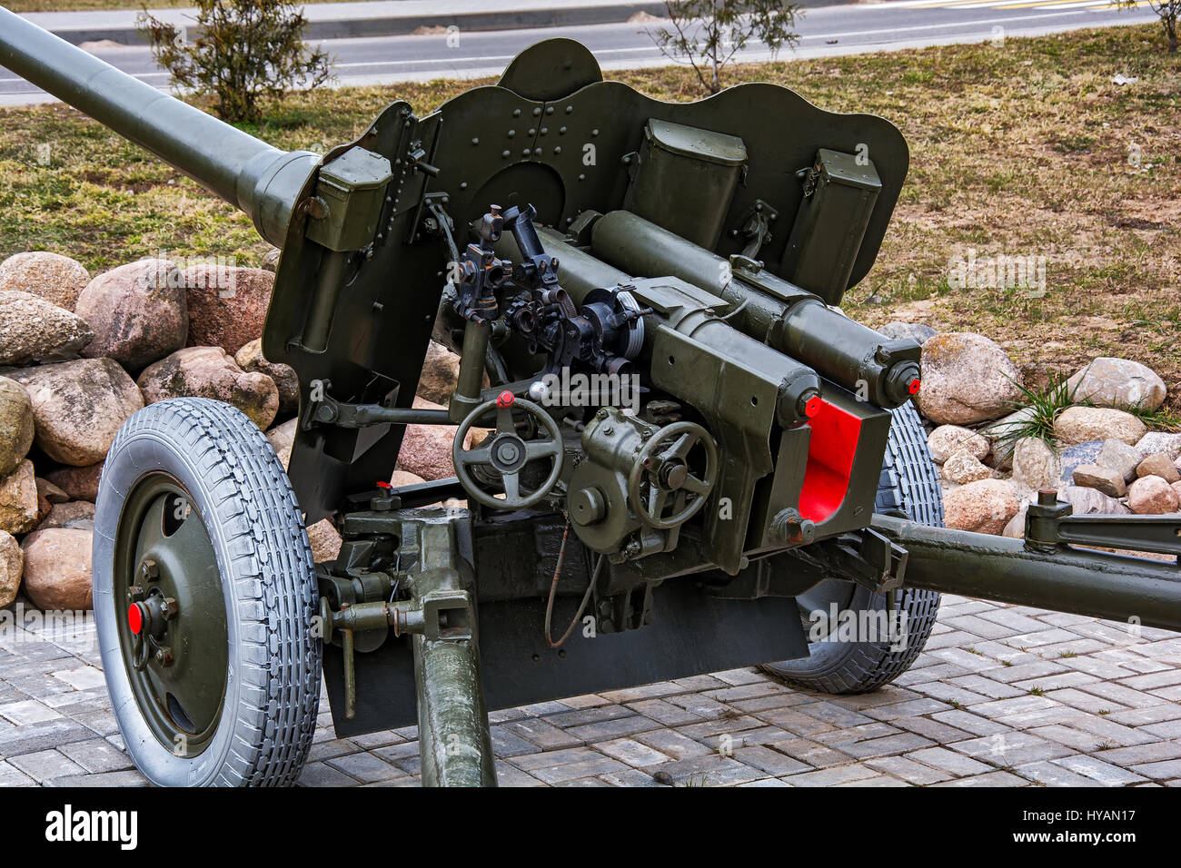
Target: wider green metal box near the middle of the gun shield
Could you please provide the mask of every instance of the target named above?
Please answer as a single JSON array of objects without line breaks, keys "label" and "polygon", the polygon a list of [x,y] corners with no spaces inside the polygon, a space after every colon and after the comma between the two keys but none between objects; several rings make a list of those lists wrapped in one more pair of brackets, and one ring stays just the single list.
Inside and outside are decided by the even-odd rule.
[{"label": "wider green metal box near the middle of the gun shield", "polygon": [[745,165],[737,136],[651,118],[624,208],[712,250]]}]

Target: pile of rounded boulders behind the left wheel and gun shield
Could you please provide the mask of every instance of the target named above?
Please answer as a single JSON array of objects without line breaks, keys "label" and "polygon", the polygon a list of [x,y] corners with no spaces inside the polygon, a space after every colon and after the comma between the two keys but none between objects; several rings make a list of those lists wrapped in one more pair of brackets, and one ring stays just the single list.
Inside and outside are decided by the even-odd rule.
[{"label": "pile of rounded boulders behind the left wheel and gun shield", "polygon": [[[187,396],[236,406],[286,465],[299,380],[262,352],[274,274],[145,259],[94,275],[54,253],[0,262],[0,608],[91,606],[91,542],[103,461],[148,404]],[[445,400],[458,357],[432,344],[416,405]],[[411,426],[394,484],[454,475],[451,437]],[[412,471],[412,472],[411,472]],[[308,528],[317,560],[340,547]]]}]

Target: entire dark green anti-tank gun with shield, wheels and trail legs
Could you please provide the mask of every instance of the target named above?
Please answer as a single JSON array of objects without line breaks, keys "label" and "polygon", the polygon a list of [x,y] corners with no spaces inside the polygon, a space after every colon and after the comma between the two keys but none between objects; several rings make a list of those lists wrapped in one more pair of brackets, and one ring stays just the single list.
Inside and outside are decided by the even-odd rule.
[{"label": "entire dark green anti-tank gun with shield, wheels and trail legs", "polygon": [[[489,707],[750,665],[872,690],[940,590],[1181,628],[1174,564],[1071,547],[1175,555],[1175,518],[1046,492],[1025,541],[940,527],[920,348],[837,309],[906,176],[881,118],[768,84],[659,103],[559,39],[318,157],[2,9],[0,64],[282,248],[263,348],[300,378],[287,472],[190,398],[105,464],[96,620],[156,783],[293,781],[321,665],[338,735],[417,720],[426,783],[489,784]],[[413,403],[432,334],[461,353],[444,409]],[[410,424],[455,426],[455,477],[390,485]],[[329,516],[340,554],[313,564],[304,528]],[[883,629],[826,641],[849,613]]]}]

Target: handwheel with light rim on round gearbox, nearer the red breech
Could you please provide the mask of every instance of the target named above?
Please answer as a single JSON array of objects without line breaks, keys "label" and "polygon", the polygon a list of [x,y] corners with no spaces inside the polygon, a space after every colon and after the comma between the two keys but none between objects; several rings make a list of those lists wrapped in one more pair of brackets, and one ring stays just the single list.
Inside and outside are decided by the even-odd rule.
[{"label": "handwheel with light rim on round gearbox, nearer the red breech", "polygon": [[705,505],[717,476],[718,448],[710,432],[693,422],[674,422],[635,456],[627,500],[641,522],[671,530]]}]

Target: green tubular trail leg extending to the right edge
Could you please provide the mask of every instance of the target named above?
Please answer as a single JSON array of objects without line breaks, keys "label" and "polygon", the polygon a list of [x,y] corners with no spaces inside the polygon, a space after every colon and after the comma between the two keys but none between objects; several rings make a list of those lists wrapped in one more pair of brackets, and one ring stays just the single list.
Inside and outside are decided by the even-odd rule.
[{"label": "green tubular trail leg extending to the right edge", "polygon": [[875,515],[873,528],[908,553],[903,585],[1181,632],[1181,567],[1061,546],[932,528]]}]

